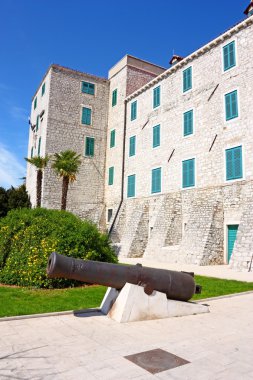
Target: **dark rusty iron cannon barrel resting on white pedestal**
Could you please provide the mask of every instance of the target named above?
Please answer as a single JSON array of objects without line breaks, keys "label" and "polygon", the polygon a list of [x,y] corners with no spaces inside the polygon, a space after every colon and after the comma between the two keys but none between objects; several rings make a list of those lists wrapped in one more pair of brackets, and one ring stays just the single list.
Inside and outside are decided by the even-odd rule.
[{"label": "dark rusty iron cannon barrel resting on white pedestal", "polygon": [[178,301],[188,301],[194,293],[199,292],[198,285],[189,273],[143,267],[141,264],[120,265],[80,260],[56,252],[49,257],[47,274],[50,278],[63,277],[118,290],[128,282],[142,285],[148,295],[157,290],[165,293],[167,298]]}]

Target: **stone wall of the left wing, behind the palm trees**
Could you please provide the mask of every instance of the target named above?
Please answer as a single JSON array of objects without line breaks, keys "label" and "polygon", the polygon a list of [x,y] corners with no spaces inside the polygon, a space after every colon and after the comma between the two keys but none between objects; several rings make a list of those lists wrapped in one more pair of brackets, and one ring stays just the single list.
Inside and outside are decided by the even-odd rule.
[{"label": "stone wall of the left wing, behind the palm trees", "polygon": [[[43,122],[44,124],[41,124],[39,129],[39,132],[41,131],[43,134],[41,156],[46,153],[53,155],[66,149],[81,154],[82,164],[77,174],[77,180],[69,185],[67,210],[104,226],[104,175],[109,82],[106,79],[57,65],[52,65],[49,73],[48,83],[46,82],[47,97],[45,97],[47,103],[40,105],[38,101],[38,110],[36,110],[40,112],[43,106],[46,116],[46,123]],[[82,93],[82,81],[95,84],[95,95]],[[81,123],[82,107],[92,109],[91,125]],[[32,112],[33,122],[34,118],[34,112]],[[85,156],[86,137],[95,138],[93,157]],[[62,180],[56,177],[49,165],[44,172],[42,206],[60,209],[61,187]],[[29,176],[28,179],[28,191],[33,200],[35,189],[36,179],[33,174],[33,177]]]}]

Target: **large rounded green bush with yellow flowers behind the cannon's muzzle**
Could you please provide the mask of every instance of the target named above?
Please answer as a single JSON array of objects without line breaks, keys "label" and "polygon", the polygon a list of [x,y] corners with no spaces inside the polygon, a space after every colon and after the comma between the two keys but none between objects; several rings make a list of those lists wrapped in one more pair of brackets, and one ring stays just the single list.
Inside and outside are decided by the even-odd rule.
[{"label": "large rounded green bush with yellow flowers behind the cannon's muzzle", "polygon": [[80,259],[117,262],[107,235],[69,212],[21,209],[0,220],[0,282],[42,288],[74,286],[77,281],[46,276],[53,251]]}]

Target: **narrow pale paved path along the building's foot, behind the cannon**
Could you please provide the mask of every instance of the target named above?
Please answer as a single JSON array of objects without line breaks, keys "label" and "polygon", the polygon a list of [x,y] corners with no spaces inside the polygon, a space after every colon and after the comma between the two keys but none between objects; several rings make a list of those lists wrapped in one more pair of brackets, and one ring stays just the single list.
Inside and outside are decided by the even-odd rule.
[{"label": "narrow pale paved path along the building's foot, behind the cannon", "polygon": [[177,271],[194,272],[202,276],[226,278],[231,280],[253,282],[253,268],[252,272],[237,272],[230,269],[228,265],[187,265],[187,264],[169,264],[159,261],[143,260],[143,258],[122,258],[120,262],[126,264],[141,263],[143,266],[149,266],[154,268],[171,269]]}]

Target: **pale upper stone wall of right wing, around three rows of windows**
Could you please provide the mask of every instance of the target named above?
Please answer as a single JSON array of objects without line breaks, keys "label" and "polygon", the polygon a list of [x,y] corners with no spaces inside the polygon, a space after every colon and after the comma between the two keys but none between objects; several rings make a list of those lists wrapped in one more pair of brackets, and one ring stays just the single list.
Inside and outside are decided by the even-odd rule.
[{"label": "pale upper stone wall of right wing, around three rows of windows", "polygon": [[[162,169],[162,194],[185,191],[182,189],[182,161],[191,158],[195,158],[196,188],[222,186],[226,183],[225,150],[239,145],[242,145],[244,158],[243,179],[253,179],[253,111],[249,96],[253,89],[252,32],[250,25],[232,34],[167,78],[157,79],[150,88],[128,101],[125,182],[128,175],[136,175],[137,198],[152,196],[151,171],[157,167]],[[236,41],[237,65],[224,72],[222,49],[231,41]],[[183,70],[189,66],[192,66],[193,87],[183,93]],[[153,89],[158,85],[161,105],[153,109]],[[235,89],[238,90],[239,117],[226,121],[224,95]],[[137,119],[131,121],[134,100],[137,100],[138,113]],[[191,109],[194,112],[193,134],[184,137],[183,114]],[[158,124],[161,144],[153,148],[153,127]],[[136,136],[133,157],[128,153],[131,136]],[[125,197],[126,192],[125,186]]]}]

